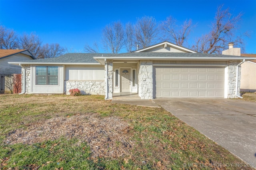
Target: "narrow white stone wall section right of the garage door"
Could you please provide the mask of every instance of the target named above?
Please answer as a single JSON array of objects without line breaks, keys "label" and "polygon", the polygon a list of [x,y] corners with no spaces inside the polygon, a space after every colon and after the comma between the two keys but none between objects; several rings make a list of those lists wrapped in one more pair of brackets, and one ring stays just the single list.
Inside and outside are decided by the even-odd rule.
[{"label": "narrow white stone wall section right of the garage door", "polygon": [[[236,66],[241,61],[228,61],[228,98],[236,97]],[[238,96],[240,96],[241,65],[238,67]]]}]

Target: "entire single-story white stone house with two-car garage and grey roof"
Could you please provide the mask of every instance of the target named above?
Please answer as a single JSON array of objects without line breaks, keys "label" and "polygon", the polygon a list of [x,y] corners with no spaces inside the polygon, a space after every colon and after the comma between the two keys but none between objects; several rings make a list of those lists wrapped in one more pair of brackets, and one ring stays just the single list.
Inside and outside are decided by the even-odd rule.
[{"label": "entire single-story white stone house with two-car garage and grey roof", "polygon": [[164,41],[132,53],[68,53],[10,63],[24,68],[26,94],[69,94],[79,88],[107,100],[113,93],[138,93],[141,99],[236,98],[236,68],[243,59],[256,58],[196,53]]}]

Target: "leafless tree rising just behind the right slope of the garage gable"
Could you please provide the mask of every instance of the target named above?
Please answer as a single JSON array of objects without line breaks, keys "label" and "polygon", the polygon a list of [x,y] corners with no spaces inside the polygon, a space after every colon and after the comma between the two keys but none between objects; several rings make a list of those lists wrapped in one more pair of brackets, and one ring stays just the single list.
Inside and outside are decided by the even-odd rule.
[{"label": "leafless tree rising just behind the right slope of the garage gable", "polygon": [[176,21],[172,16],[169,16],[165,21],[162,21],[160,29],[163,32],[164,41],[170,41],[182,46],[188,39],[188,35],[194,25],[192,25],[191,19],[184,21],[180,26],[176,25]]}]

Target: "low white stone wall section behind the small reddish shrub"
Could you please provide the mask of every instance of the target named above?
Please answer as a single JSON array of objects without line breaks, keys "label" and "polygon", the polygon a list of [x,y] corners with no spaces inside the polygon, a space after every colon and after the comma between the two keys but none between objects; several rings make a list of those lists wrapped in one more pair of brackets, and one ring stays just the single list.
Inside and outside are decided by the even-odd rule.
[{"label": "low white stone wall section behind the small reddish shrub", "polygon": [[105,95],[105,82],[104,80],[91,80],[91,81],[72,81],[67,80],[64,82],[64,91],[70,94],[70,89],[78,88],[84,95]]}]

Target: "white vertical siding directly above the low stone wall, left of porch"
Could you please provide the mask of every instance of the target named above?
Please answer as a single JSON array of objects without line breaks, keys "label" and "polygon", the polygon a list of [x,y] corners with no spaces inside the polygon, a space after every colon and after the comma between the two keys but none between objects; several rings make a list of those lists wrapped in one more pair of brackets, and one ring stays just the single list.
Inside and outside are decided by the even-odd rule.
[{"label": "white vertical siding directly above the low stone wall, left of porch", "polygon": [[65,80],[104,80],[104,66],[66,65]]}]

